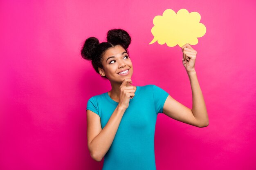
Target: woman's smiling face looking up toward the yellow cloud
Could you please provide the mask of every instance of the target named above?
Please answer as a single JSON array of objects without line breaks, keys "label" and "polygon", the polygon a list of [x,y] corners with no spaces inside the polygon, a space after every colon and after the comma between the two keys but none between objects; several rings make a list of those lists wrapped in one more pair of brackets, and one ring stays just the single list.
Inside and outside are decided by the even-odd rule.
[{"label": "woman's smiling face looking up toward the yellow cloud", "polygon": [[[106,51],[106,53],[103,55],[102,65],[104,69],[99,68],[99,73],[101,76],[106,75],[110,82],[120,84],[124,81],[124,79],[130,79],[132,77],[132,61],[126,53],[126,50],[120,45],[116,45]],[[128,72],[125,71],[127,69]],[[123,74],[118,74],[122,71],[125,72],[123,72]]]}]

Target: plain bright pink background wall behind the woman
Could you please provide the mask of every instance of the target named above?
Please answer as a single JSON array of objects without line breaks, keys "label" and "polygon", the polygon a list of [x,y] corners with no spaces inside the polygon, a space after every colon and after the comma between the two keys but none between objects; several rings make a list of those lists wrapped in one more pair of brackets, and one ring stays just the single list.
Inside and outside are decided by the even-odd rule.
[{"label": "plain bright pink background wall behind the woman", "polygon": [[[130,33],[132,82],[155,84],[192,107],[182,51],[156,43],[153,18],[196,11],[206,34],[192,46],[209,114],[198,128],[159,114],[157,170],[256,169],[256,3],[253,0],[0,1],[0,169],[99,170],[87,148],[86,104],[110,91],[80,49],[109,29]],[[146,77],[146,78],[145,78]]]}]

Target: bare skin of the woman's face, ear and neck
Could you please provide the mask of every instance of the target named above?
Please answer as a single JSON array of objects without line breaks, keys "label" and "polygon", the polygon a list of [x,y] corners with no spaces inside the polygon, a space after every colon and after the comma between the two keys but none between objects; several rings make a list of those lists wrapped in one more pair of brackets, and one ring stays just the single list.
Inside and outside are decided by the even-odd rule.
[{"label": "bare skin of the woman's face, ear and neck", "polygon": [[[120,46],[116,45],[108,49],[103,55],[103,69],[99,68],[99,73],[101,76],[108,77],[108,80],[111,84],[111,91],[108,92],[108,95],[115,102],[119,102],[120,97],[120,86],[124,82],[124,79],[131,79],[133,73],[133,66],[130,57],[126,50]],[[108,57],[114,56],[113,58],[108,59]],[[107,61],[108,59],[108,61]],[[122,70],[129,69],[129,74],[126,76],[119,75],[118,73]],[[132,86],[130,82],[127,82],[126,86]],[[136,86],[135,86],[136,90]]]}]

